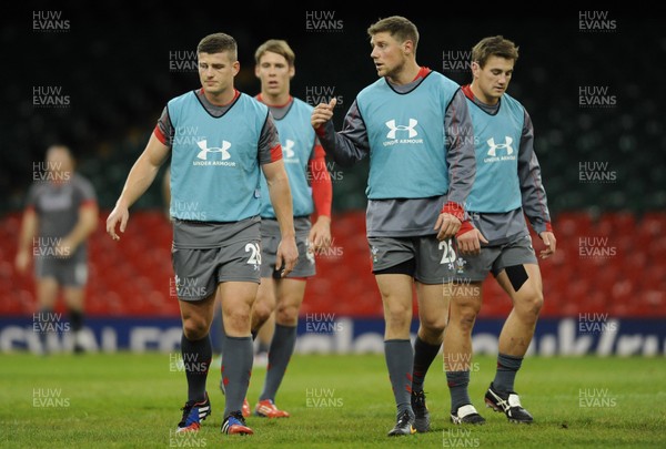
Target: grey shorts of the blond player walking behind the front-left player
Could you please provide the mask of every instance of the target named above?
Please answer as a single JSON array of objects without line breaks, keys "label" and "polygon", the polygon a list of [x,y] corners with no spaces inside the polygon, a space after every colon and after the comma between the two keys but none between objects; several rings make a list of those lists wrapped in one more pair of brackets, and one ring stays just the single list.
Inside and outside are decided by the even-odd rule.
[{"label": "grey shorts of the blond player walking behind the front-left player", "polygon": [[[312,277],[316,274],[314,254],[310,253],[307,236],[312,227],[309,217],[294,217],[296,231],[296,246],[299,262],[294,269],[286,275],[287,278]],[[261,277],[280,278],[280,271],[275,271],[278,262],[278,245],[280,244],[280,224],[276,220],[261,220]]]}]

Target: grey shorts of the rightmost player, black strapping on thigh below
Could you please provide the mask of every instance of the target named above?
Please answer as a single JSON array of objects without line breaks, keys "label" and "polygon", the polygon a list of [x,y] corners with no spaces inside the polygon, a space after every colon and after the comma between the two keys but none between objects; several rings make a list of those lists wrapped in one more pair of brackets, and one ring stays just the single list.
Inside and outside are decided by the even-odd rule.
[{"label": "grey shorts of the rightmost player, black strapping on thigh below", "polygon": [[455,244],[451,247],[451,241],[447,242],[453,257],[446,264],[445,282],[483,282],[488,273],[496,277],[506,267],[538,263],[528,235],[502,245],[483,246],[477,255],[458,255]]}]

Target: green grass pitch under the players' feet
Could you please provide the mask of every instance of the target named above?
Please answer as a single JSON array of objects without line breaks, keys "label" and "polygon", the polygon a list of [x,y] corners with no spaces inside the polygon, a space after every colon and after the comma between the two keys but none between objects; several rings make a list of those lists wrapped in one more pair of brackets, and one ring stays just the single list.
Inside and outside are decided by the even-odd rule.
[{"label": "green grass pitch under the players' feet", "polygon": [[[448,421],[441,358],[425,391],[432,431],[389,438],[395,406],[381,355],[292,357],[276,404],[286,419],[250,417],[254,436],[220,433],[224,397],[211,370],[213,415],[196,435],[175,436],[185,401],[174,354],[29,354],[0,356],[0,447],[8,448],[666,448],[666,359],[663,357],[528,357],[516,380],[532,426],[508,424],[485,408],[495,360],[478,356],[470,394],[482,427]],[[265,369],[256,368],[253,407]]]}]

